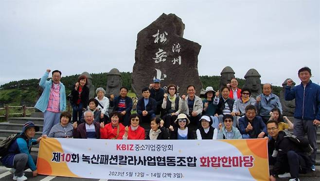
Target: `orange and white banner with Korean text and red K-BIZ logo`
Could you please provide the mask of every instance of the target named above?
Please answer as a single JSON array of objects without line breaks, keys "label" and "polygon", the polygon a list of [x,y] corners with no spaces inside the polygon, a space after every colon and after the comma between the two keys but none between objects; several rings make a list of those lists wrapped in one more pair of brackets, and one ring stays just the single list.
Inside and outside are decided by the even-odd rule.
[{"label": "orange and white banner with Korean text and red K-BIZ logo", "polygon": [[147,181],[267,181],[267,139],[105,140],[47,138],[39,174]]}]

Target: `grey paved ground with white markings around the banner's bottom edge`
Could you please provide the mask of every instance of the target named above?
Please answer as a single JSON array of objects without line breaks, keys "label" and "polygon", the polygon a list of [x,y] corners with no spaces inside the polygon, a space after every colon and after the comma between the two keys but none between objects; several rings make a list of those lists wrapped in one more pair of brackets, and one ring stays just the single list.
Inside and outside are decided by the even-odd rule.
[{"label": "grey paved ground with white markings around the banner's bottom edge", "polygon": [[[319,168],[317,168],[317,172],[319,172]],[[320,181],[320,177],[318,174],[311,174],[312,176],[305,177],[302,175],[300,177],[300,181]],[[55,177],[55,176],[46,176],[46,175],[38,175],[37,177],[32,177],[32,172],[30,169],[25,171],[25,176],[28,178],[28,181],[120,181],[120,180],[106,180],[106,179],[78,179],[78,178],[70,178],[70,177]],[[13,174],[9,172],[9,169],[0,166],[0,181],[13,181]],[[279,179],[277,181],[288,181],[289,179]],[[209,180],[208,180],[209,181]]]}]

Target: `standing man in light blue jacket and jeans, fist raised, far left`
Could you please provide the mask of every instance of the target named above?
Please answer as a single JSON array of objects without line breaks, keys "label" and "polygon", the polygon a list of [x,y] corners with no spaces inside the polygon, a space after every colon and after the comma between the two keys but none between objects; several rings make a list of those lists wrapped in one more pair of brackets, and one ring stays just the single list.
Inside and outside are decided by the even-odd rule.
[{"label": "standing man in light blue jacket and jeans, fist raised, far left", "polygon": [[61,72],[54,70],[52,79],[47,81],[50,69],[41,77],[39,85],[43,88],[42,95],[36,102],[36,109],[43,112],[43,131],[42,135],[48,135],[53,125],[60,122],[60,113],[66,110],[66,90],[60,82]]}]

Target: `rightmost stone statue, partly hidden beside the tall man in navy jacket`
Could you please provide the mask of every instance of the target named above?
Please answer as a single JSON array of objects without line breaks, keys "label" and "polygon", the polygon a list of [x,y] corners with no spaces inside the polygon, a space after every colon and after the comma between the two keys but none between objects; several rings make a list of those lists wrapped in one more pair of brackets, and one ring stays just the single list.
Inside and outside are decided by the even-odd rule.
[{"label": "rightmost stone statue, partly hidden beside the tall man in navy jacket", "polygon": [[[294,114],[294,110],[295,110],[295,107],[296,107],[296,104],[295,104],[295,99],[293,100],[285,100],[284,99],[284,89],[285,89],[285,86],[287,84],[287,80],[286,79],[283,83],[282,83],[282,90],[280,91],[280,102],[281,102],[281,106],[282,106],[282,114],[285,115],[285,116],[293,116]],[[292,79],[291,79],[292,80]],[[296,85],[296,82],[292,82],[292,87],[294,87]]]}]

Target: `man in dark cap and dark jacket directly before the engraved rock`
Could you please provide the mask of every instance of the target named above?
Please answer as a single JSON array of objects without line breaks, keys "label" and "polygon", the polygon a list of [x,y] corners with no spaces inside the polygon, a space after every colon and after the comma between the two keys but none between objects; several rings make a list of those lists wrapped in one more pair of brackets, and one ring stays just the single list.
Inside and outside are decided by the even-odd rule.
[{"label": "man in dark cap and dark jacket directly before the engraved rock", "polygon": [[165,94],[164,89],[160,85],[160,79],[154,79],[153,83],[149,85],[149,89],[150,89],[150,98],[153,98],[157,101],[156,115],[160,115],[161,105],[163,102],[163,95]]}]

